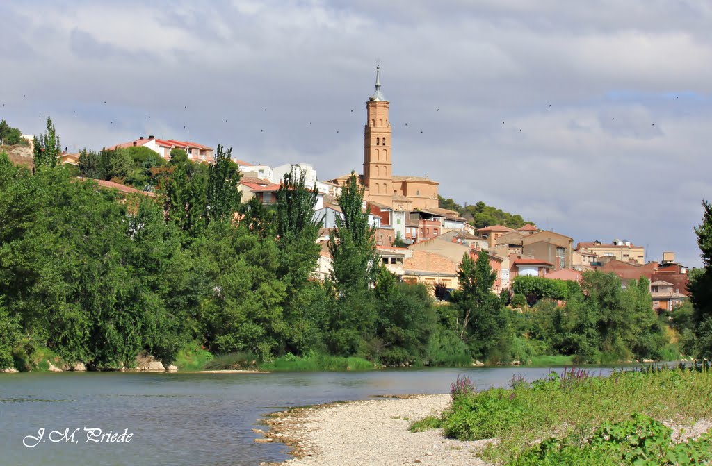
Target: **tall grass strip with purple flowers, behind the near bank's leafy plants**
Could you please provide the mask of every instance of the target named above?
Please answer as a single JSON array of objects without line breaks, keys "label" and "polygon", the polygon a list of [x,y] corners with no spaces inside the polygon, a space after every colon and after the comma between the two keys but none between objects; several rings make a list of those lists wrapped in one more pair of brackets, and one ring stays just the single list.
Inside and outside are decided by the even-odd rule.
[{"label": "tall grass strip with purple flowers, behind the near bank's leafy plants", "polygon": [[413,423],[412,429],[435,425],[460,440],[498,438],[483,455],[502,462],[537,440],[574,431],[592,433],[604,422],[622,422],[633,413],[680,424],[712,418],[709,369],[652,367],[614,371],[607,377],[565,369],[513,386],[458,396],[439,418]]}]

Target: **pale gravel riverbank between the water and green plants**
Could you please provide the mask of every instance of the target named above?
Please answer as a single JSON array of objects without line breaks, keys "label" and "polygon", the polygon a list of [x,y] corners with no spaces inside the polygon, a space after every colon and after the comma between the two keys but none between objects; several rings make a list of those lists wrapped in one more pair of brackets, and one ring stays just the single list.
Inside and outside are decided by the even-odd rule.
[{"label": "pale gravel riverbank between the water and green plants", "polygon": [[411,420],[440,413],[449,395],[334,403],[278,413],[268,438],[294,450],[289,466],[485,465],[476,451],[488,440],[461,442],[440,430],[413,433]]}]

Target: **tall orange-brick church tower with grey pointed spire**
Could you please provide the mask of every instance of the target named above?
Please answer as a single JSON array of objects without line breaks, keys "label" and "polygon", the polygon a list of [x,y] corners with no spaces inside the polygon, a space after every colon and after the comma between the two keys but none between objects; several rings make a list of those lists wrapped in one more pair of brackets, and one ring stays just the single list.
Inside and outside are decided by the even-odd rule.
[{"label": "tall orange-brick church tower with grey pointed spire", "polygon": [[391,171],[391,123],[389,102],[381,92],[380,65],[376,66],[376,92],[366,102],[367,121],[364,132],[363,182],[369,200],[391,206],[393,174]]}]

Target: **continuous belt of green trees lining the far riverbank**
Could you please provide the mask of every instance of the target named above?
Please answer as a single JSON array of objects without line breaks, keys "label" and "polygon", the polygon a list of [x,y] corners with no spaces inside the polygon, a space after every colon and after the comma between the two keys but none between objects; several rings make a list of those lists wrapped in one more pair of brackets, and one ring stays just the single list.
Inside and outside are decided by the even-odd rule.
[{"label": "continuous belt of green trees lining the far riverbank", "polygon": [[[436,303],[379,266],[363,189],[352,174],[315,280],[315,190],[287,175],[274,206],[243,202],[231,149],[213,165],[128,148],[56,165],[51,120],[35,169],[0,154],[0,369],[82,361],[130,367],[148,353],[180,369],[366,369],[510,361],[609,362],[710,354],[711,272],[693,274],[694,307],[658,317],[647,283],[518,278],[491,293],[487,256],[463,258],[460,290]],[[143,186],[121,196],[91,178]],[[703,257],[712,226],[698,228]],[[706,251],[706,252],[705,252]],[[705,294],[707,293],[707,295]],[[557,301],[563,302],[558,305]]]}]

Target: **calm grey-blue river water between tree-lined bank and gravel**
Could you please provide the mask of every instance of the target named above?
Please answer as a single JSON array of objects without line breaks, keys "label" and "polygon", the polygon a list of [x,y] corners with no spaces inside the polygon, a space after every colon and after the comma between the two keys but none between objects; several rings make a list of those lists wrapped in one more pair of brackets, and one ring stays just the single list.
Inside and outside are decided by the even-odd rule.
[{"label": "calm grey-blue river water between tree-lined bank and gravel", "polygon": [[[610,371],[590,369],[595,374]],[[0,374],[0,465],[259,465],[288,459],[285,445],[253,443],[258,435],[251,431],[263,428],[259,425],[263,415],[282,408],[376,395],[449,393],[450,383],[463,373],[484,389],[507,386],[515,374],[533,381],[550,371],[497,367],[365,373]],[[115,438],[124,441],[88,441],[88,435],[101,440],[91,429],[125,434]],[[126,442],[128,434],[132,437]]]}]

